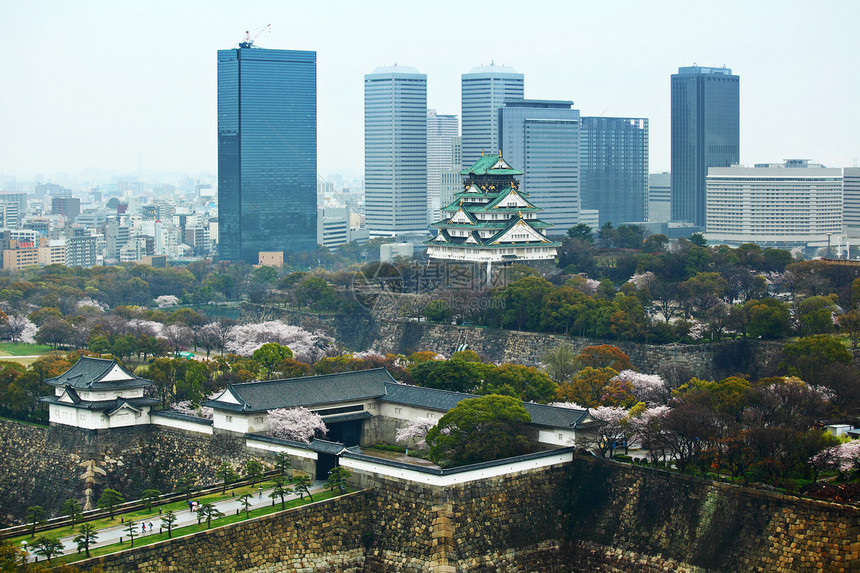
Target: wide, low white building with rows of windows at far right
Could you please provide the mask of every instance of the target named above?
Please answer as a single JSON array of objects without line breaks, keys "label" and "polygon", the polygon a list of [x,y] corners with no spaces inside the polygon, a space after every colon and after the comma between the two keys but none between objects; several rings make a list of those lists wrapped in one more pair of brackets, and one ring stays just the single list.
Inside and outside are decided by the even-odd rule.
[{"label": "wide, low white building with rows of windows at far right", "polygon": [[705,238],[737,247],[835,246],[842,235],[842,170],[808,160],[755,167],[711,167]]}]

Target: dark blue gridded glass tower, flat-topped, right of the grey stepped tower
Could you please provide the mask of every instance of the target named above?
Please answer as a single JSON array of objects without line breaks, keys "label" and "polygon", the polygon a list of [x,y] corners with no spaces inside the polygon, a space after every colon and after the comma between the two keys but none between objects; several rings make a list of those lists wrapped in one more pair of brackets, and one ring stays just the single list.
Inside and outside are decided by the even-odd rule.
[{"label": "dark blue gridded glass tower, flat-topped, right of the grey stepped tower", "polygon": [[646,220],[648,120],[583,117],[579,138],[583,209],[600,211],[600,225]]}]

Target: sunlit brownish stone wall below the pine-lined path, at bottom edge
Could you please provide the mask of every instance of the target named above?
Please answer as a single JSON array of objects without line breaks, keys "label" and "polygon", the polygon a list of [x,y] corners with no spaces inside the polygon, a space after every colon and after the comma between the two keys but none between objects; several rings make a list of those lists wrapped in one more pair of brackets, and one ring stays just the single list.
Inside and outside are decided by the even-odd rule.
[{"label": "sunlit brownish stone wall below the pine-lined path, at bottom edge", "polygon": [[104,573],[364,571],[372,499],[372,492],[348,494],[76,565]]}]

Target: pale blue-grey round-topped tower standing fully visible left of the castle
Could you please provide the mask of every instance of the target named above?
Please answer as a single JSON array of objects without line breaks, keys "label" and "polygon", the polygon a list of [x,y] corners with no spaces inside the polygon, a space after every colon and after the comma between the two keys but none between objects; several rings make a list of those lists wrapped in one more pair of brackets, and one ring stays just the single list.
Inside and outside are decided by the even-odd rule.
[{"label": "pale blue-grey round-topped tower standing fully visible left of the castle", "polygon": [[364,76],[364,180],[371,235],[427,230],[427,76],[415,68]]}]

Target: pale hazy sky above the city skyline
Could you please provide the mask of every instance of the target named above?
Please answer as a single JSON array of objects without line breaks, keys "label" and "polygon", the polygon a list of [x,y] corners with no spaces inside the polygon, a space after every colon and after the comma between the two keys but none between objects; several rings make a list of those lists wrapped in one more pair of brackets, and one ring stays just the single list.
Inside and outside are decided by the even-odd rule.
[{"label": "pale hazy sky above the city skyline", "polygon": [[741,162],[860,159],[860,2],[0,0],[0,175],[217,170],[216,51],[271,24],[265,48],[317,51],[319,171],[363,171],[363,76],[427,74],[460,114],[460,74],[497,64],[525,97],[650,119],[669,169],[669,76],[741,78]]}]

